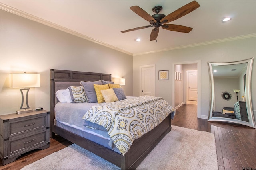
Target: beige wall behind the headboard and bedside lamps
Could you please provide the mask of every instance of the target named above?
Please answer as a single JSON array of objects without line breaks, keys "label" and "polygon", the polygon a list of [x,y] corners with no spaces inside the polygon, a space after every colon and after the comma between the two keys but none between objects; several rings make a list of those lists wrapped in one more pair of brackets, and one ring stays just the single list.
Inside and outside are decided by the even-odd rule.
[{"label": "beige wall behind the headboard and bedside lamps", "polygon": [[19,88],[9,88],[9,73],[38,73],[40,88],[30,88],[30,108],[50,109],[50,69],[100,72],[126,78],[132,96],[132,56],[1,10],[0,115],[20,109]]}]

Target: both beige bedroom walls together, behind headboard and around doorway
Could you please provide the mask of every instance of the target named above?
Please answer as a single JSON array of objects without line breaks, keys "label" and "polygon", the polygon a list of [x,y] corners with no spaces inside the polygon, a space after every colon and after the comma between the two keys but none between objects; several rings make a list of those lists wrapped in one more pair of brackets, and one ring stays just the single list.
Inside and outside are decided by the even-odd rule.
[{"label": "both beige bedroom walls together, behind headboard and around doorway", "polygon": [[[156,96],[172,101],[174,63],[200,61],[201,115],[208,116],[210,80],[207,62],[230,62],[256,56],[256,37],[131,57],[40,23],[2,11],[0,51],[0,114],[20,108],[19,89],[9,88],[9,73],[38,73],[40,88],[31,88],[31,108],[50,107],[49,70],[110,73],[126,78],[127,96],[139,96],[139,66],[156,64]],[[92,64],[93,63],[93,64]],[[256,117],[256,65],[252,69],[252,109]],[[158,81],[158,70],[169,70],[168,81]]]}]

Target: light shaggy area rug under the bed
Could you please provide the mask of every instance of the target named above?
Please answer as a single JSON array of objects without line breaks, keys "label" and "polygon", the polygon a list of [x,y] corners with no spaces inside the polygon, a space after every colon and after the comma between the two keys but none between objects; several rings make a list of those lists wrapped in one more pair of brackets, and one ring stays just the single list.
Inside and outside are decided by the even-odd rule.
[{"label": "light shaggy area rug under the bed", "polygon": [[[136,170],[218,170],[214,134],[172,126]],[[72,144],[22,170],[120,170],[114,164]]]}]

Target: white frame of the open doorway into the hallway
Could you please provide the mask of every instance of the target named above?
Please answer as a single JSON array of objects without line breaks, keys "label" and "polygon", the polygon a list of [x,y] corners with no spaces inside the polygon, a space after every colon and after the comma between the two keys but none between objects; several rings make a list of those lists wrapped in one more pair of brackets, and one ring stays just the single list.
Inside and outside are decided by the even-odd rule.
[{"label": "white frame of the open doorway into the hallway", "polygon": [[[197,64],[197,117],[205,119],[201,117],[201,60],[196,61],[185,61],[185,62],[178,62],[172,64],[172,106],[175,106],[175,65],[184,65],[184,64]],[[183,74],[184,75],[184,74]],[[183,77],[184,80],[184,77]],[[183,87],[186,88],[186,87]]]}]

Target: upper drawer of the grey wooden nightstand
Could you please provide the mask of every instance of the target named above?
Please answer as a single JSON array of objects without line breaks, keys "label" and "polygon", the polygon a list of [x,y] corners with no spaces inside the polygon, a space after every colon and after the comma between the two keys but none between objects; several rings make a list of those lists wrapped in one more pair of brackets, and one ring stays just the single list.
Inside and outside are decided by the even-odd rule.
[{"label": "upper drawer of the grey wooden nightstand", "polygon": [[37,117],[31,117],[30,119],[25,120],[20,119],[18,121],[9,121],[8,126],[8,129],[10,129],[8,132],[9,137],[32,131],[33,129],[46,127],[46,114]]}]

